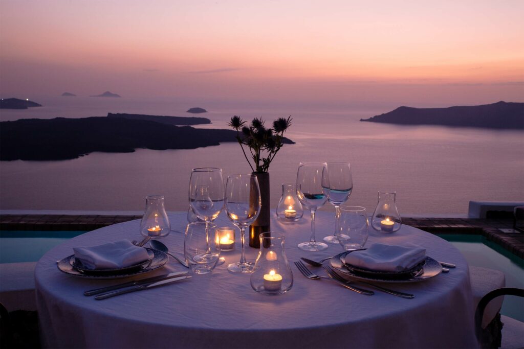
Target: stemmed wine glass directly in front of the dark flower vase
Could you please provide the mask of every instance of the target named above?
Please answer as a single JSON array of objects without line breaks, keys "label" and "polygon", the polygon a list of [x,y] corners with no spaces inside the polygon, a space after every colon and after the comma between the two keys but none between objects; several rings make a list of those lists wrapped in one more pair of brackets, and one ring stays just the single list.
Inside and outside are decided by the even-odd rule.
[{"label": "stemmed wine glass directly in front of the dark flower vase", "polygon": [[227,177],[225,209],[227,217],[240,229],[242,255],[240,262],[227,266],[232,273],[252,273],[253,263],[246,261],[244,232],[260,213],[260,188],[255,175],[241,174]]}]

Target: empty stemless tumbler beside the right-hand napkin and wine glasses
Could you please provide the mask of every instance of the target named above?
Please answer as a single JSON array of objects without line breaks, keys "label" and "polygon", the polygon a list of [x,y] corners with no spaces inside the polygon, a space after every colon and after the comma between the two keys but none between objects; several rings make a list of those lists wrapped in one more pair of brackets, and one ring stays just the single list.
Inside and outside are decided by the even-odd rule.
[{"label": "empty stemless tumbler beside the right-hand napkin and wine glasses", "polygon": [[366,209],[361,206],[343,206],[338,220],[336,237],[342,247],[348,251],[361,249],[369,236]]}]

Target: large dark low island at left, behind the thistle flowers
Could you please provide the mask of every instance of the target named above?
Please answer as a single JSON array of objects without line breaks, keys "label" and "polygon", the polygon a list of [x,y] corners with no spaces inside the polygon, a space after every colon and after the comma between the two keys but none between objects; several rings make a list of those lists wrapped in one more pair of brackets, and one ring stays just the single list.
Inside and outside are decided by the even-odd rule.
[{"label": "large dark low island at left, behind the thistle flowers", "polygon": [[[171,118],[177,118],[177,121]],[[3,121],[0,122],[0,160],[68,160],[92,152],[129,153],[139,148],[195,149],[237,141],[237,132],[233,130],[172,125],[173,122],[195,125],[194,119],[204,119],[203,123],[209,123],[205,118],[181,119],[183,117],[109,114],[107,117],[79,119]],[[283,143],[294,142],[285,138]]]}]

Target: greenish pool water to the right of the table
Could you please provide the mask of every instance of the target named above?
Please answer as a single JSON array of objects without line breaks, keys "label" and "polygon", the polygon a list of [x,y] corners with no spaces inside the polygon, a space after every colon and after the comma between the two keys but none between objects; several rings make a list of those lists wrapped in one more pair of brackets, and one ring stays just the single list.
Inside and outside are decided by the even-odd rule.
[{"label": "greenish pool water to the right of the table", "polygon": [[[496,269],[506,275],[506,287],[524,288],[524,260],[482,235],[439,234],[459,249],[470,265]],[[453,271],[451,271],[453,272]],[[524,298],[506,296],[501,314],[524,321]]]}]

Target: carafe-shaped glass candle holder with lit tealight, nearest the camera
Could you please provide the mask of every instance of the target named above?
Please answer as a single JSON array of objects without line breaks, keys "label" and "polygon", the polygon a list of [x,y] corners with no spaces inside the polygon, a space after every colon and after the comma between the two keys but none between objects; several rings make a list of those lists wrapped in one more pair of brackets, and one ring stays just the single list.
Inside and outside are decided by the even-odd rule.
[{"label": "carafe-shaped glass candle holder with lit tealight, nearest the camera", "polygon": [[293,273],[284,250],[284,234],[260,234],[260,251],[251,274],[251,287],[261,294],[280,295],[293,286]]}]

